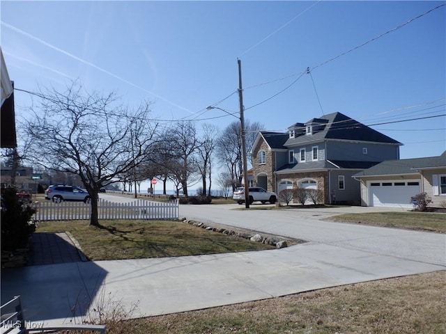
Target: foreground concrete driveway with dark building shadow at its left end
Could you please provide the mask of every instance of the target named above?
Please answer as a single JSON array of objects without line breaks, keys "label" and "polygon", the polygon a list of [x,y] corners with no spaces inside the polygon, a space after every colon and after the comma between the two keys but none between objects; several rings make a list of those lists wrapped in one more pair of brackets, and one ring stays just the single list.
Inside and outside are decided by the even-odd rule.
[{"label": "foreground concrete driveway with dark building shadow at its left end", "polygon": [[121,301],[134,317],[268,299],[444,270],[438,264],[309,242],[281,250],[72,262],[2,272],[1,302],[20,294],[26,318],[61,324]]}]

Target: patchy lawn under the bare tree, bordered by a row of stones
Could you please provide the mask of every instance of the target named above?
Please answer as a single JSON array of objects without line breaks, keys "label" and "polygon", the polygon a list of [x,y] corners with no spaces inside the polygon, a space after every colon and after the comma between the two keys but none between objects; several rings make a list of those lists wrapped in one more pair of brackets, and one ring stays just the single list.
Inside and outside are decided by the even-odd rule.
[{"label": "patchy lawn under the bare tree, bordered by a row of stones", "polygon": [[210,232],[178,221],[87,221],[40,223],[36,232],[70,232],[90,260],[125,260],[246,252],[274,247]]}]

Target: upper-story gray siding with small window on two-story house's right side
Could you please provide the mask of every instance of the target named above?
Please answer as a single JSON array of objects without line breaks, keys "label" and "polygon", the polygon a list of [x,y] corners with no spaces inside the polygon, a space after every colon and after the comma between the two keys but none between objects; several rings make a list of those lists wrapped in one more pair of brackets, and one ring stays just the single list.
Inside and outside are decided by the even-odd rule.
[{"label": "upper-story gray siding with small window on two-story house's right side", "polygon": [[[367,148],[367,154],[362,153],[363,148]],[[394,160],[399,159],[399,148],[396,145],[328,141],[327,159],[346,161]]]}]

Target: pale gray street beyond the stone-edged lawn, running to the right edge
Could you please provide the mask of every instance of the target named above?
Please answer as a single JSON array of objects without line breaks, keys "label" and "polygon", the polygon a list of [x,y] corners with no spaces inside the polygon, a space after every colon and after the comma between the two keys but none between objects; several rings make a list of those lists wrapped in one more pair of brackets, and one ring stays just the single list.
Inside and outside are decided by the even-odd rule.
[{"label": "pale gray street beyond the stone-edged lawn, running to the right edge", "polygon": [[445,234],[320,220],[336,214],[377,212],[383,209],[342,207],[243,210],[238,208],[239,205],[200,205],[199,208],[193,205],[180,205],[180,217],[406,260],[446,265]]}]

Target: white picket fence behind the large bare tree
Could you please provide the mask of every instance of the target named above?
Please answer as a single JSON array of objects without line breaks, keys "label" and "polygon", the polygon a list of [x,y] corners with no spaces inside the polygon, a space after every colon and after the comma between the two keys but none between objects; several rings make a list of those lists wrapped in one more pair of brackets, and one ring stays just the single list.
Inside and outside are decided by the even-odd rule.
[{"label": "white picket fence behind the large bare tree", "polygon": [[[91,205],[84,202],[51,201],[36,204],[36,221],[69,221],[90,219]],[[169,202],[150,202],[134,200],[128,203],[116,203],[98,200],[99,219],[178,219],[179,200]]]}]

